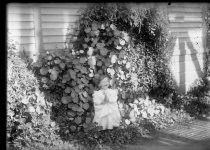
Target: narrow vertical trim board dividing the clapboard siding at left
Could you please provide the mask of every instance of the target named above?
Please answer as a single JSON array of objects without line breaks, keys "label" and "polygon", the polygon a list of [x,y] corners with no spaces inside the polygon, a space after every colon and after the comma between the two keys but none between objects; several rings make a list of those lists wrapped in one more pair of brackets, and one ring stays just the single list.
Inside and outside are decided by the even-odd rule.
[{"label": "narrow vertical trim board dividing the clapboard siding at left", "polygon": [[39,55],[43,51],[42,46],[42,28],[41,28],[41,14],[40,14],[40,5],[34,4],[34,36],[35,36],[35,47],[36,52],[35,55]]}]

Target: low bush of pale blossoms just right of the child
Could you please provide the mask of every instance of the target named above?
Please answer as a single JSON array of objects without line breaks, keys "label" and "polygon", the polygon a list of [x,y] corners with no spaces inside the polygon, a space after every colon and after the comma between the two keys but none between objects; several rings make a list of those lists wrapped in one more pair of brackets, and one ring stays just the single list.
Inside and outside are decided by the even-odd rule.
[{"label": "low bush of pale blossoms just right of the child", "polygon": [[191,119],[184,108],[180,111],[169,109],[149,97],[135,99],[134,103],[129,103],[128,108],[128,115],[124,118],[127,125],[138,124],[145,127],[145,123],[150,123],[154,129],[160,129]]}]

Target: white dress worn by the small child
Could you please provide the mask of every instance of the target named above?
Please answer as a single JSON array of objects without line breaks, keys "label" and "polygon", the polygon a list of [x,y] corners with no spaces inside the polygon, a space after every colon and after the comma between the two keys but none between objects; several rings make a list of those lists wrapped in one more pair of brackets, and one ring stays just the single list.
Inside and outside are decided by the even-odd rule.
[{"label": "white dress worn by the small child", "polygon": [[[104,104],[105,95],[107,95],[108,103]],[[93,122],[97,122],[99,126],[105,129],[113,129],[120,125],[121,116],[117,104],[117,90],[106,89],[93,93],[93,102],[95,108],[95,116]]]}]

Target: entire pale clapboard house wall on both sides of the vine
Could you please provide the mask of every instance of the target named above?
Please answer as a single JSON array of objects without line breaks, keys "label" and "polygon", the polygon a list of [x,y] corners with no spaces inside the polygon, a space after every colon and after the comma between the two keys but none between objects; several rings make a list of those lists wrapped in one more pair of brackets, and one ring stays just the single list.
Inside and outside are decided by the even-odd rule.
[{"label": "entire pale clapboard house wall on both sides of the vine", "polygon": [[[19,42],[18,49],[33,54],[61,50],[73,34],[80,8],[90,4],[9,4],[8,31],[10,38]],[[206,51],[206,27],[203,3],[130,3],[130,7],[165,7],[170,21],[170,32],[175,35],[171,70],[180,92],[203,75],[203,57]]]}]

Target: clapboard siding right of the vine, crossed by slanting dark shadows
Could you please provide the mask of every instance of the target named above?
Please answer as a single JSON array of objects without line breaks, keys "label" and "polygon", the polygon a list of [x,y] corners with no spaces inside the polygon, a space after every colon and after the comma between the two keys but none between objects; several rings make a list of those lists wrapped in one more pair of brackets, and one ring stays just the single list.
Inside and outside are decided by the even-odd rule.
[{"label": "clapboard siding right of the vine, crossed by slanting dark shadows", "polygon": [[203,5],[196,3],[172,3],[168,6],[170,32],[176,36],[171,71],[182,92],[203,75]]}]

